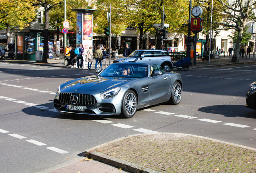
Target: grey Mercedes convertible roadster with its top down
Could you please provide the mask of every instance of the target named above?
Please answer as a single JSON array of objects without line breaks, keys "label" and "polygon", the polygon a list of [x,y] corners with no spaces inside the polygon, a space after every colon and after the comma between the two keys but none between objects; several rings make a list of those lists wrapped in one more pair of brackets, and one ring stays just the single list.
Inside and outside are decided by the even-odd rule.
[{"label": "grey Mercedes convertible roadster with its top down", "polygon": [[156,65],[124,62],[111,64],[95,76],[61,84],[54,98],[54,109],[131,118],[137,109],[163,102],[177,105],[181,98],[180,74],[166,72]]}]

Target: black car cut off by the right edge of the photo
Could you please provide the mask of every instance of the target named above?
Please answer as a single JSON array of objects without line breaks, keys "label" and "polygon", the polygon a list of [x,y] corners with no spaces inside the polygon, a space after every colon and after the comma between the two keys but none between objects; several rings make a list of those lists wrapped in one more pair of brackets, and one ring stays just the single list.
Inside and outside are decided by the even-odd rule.
[{"label": "black car cut off by the right edge of the photo", "polygon": [[246,94],[246,107],[256,110],[256,82],[250,84],[250,89]]}]

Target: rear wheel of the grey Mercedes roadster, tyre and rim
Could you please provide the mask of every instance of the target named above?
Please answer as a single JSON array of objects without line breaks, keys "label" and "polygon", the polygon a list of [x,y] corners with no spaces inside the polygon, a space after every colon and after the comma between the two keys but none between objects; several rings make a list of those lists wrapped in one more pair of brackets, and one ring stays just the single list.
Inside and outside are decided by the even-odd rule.
[{"label": "rear wheel of the grey Mercedes roadster, tyre and rim", "polygon": [[178,105],[182,98],[182,86],[180,82],[176,81],[173,84],[171,90],[171,98],[169,99],[168,103],[171,105]]}]

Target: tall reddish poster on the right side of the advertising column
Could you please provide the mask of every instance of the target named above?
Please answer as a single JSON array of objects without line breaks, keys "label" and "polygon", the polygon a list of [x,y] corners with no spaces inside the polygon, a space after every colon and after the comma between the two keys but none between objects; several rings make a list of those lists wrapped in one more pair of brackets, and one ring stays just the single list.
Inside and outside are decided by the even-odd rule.
[{"label": "tall reddish poster on the right side of the advertising column", "polygon": [[83,32],[83,45],[87,50],[93,46],[93,14],[91,13],[84,14]]}]

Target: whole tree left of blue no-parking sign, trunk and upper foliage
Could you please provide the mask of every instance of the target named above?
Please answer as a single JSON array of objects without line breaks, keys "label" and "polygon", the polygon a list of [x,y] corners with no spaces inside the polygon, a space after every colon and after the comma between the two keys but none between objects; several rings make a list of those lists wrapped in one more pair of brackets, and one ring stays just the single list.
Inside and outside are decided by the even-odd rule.
[{"label": "whole tree left of blue no-parking sign, trunk and upper foliage", "polygon": [[62,3],[62,0],[23,0],[31,3],[31,6],[43,8],[44,10],[44,27],[43,27],[43,59],[42,63],[47,63],[48,59],[48,41],[49,41],[49,13],[52,8]]}]

